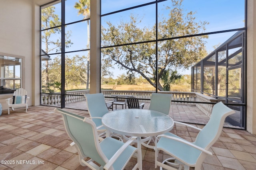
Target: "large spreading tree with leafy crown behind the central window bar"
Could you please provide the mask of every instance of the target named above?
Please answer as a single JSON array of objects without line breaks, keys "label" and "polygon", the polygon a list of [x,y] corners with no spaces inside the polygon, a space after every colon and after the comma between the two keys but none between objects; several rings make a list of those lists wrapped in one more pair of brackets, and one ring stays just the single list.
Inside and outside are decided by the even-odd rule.
[{"label": "large spreading tree with leafy crown behind the central window bar", "polygon": [[[179,37],[202,33],[207,22],[196,22],[194,13],[185,14],[182,9],[183,0],[172,0],[169,17],[162,18],[158,23],[158,39]],[[140,19],[131,15],[130,21],[119,24],[107,22],[108,27],[102,28],[102,45],[113,46],[126,43],[154,41],[156,25],[140,27]],[[128,70],[142,76],[158,90],[163,90],[160,78],[166,70],[189,68],[206,56],[205,36],[158,41],[158,68],[156,68],[156,44],[140,43],[102,49],[102,59],[116,64],[120,70]],[[158,80],[156,74],[158,73]],[[167,87],[166,87],[167,88]]]}]

